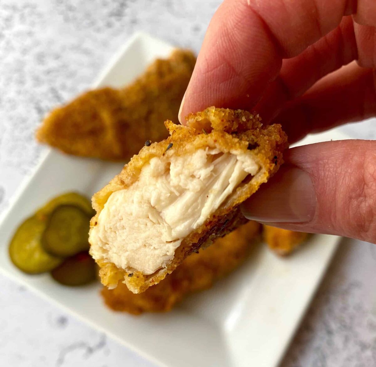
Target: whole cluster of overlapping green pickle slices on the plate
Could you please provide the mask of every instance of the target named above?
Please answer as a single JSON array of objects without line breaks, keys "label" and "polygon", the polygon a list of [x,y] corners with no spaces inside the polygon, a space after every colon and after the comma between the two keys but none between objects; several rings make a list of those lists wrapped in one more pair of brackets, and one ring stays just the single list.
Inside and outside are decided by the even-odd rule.
[{"label": "whole cluster of overlapping green pickle slices on the plate", "polygon": [[64,285],[95,280],[96,263],[88,254],[93,215],[91,202],[78,193],[53,198],[18,227],[9,244],[12,262],[28,274],[51,272]]}]

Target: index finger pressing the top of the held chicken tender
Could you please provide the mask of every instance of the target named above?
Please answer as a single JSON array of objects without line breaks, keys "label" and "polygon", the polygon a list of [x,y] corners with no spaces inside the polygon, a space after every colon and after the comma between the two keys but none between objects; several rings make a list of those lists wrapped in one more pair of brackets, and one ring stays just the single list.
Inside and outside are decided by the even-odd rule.
[{"label": "index finger pressing the top of the held chicken tender", "polygon": [[354,8],[348,0],[225,0],[206,32],[180,122],[213,105],[251,109],[277,77],[282,59],[314,44]]}]

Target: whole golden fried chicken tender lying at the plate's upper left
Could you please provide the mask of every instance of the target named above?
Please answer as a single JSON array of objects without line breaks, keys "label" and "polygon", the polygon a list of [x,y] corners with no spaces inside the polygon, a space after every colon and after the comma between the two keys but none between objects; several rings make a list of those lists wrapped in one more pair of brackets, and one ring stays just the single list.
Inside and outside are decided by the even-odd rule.
[{"label": "whole golden fried chicken tender lying at the plate's upper left", "polygon": [[53,110],[36,139],[77,156],[128,160],[145,140],[167,137],[162,122],[177,121],[195,62],[191,51],[177,49],[125,88],[88,91]]}]

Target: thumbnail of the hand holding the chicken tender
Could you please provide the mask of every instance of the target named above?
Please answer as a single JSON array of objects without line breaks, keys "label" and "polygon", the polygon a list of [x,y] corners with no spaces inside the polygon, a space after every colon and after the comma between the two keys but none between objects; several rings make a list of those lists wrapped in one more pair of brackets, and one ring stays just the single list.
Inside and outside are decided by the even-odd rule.
[{"label": "thumbnail of the hand holding the chicken tender", "polygon": [[309,222],[315,215],[316,193],[302,169],[282,167],[242,205],[244,216],[259,222]]}]

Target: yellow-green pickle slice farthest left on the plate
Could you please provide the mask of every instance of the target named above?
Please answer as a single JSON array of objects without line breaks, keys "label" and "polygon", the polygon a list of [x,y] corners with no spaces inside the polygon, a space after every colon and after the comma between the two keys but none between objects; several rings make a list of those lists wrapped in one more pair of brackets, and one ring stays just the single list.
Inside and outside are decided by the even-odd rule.
[{"label": "yellow-green pickle slice farthest left on the plate", "polygon": [[9,245],[12,263],[28,274],[48,272],[63,260],[47,254],[41,245],[45,222],[32,216],[18,227]]}]

